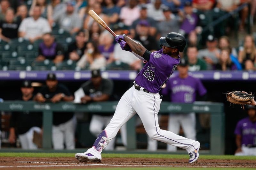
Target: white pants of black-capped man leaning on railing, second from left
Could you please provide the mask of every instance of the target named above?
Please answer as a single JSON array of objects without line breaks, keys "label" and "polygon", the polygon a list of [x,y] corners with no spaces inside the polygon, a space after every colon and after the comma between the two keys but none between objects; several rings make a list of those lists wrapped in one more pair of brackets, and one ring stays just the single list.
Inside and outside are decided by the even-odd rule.
[{"label": "white pants of black-capped man leaning on railing, second from left", "polygon": [[58,126],[52,126],[53,149],[75,149],[76,116]]}]

